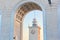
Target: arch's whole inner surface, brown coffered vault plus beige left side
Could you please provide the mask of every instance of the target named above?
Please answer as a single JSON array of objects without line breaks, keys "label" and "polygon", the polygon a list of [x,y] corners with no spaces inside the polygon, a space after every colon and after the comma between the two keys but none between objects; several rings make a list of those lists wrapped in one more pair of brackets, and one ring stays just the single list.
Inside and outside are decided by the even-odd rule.
[{"label": "arch's whole inner surface, brown coffered vault plus beige left side", "polygon": [[23,40],[23,20],[26,14],[28,12],[33,10],[40,10],[42,11],[42,8],[33,2],[27,2],[22,4],[15,14],[15,20],[14,20],[14,40]]}]

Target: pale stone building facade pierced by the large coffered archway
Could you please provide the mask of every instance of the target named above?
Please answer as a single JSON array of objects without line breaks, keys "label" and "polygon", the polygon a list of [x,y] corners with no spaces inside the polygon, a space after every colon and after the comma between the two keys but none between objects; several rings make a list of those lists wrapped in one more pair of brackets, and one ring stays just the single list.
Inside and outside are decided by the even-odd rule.
[{"label": "pale stone building facade pierced by the large coffered archway", "polygon": [[[32,6],[30,9],[29,2],[32,2],[36,7]],[[29,10],[25,11],[23,7],[26,5],[25,3],[27,3]],[[19,9],[22,7],[24,10]],[[42,10],[44,40],[60,40],[60,0],[51,0],[51,3],[48,0],[0,0],[0,40],[14,40],[15,35],[18,36],[17,40],[22,40],[23,17],[20,17],[22,20],[19,22],[15,20],[19,10],[24,12],[23,15],[32,10]],[[20,14],[20,16],[22,15]]]}]

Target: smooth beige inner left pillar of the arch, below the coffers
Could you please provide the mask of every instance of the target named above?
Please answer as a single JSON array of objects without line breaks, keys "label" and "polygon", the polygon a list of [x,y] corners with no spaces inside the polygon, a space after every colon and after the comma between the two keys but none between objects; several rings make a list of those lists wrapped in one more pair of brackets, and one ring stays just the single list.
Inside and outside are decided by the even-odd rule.
[{"label": "smooth beige inner left pillar of the arch, below the coffers", "polygon": [[23,25],[22,22],[15,20],[14,23],[14,40],[22,40],[23,38]]}]

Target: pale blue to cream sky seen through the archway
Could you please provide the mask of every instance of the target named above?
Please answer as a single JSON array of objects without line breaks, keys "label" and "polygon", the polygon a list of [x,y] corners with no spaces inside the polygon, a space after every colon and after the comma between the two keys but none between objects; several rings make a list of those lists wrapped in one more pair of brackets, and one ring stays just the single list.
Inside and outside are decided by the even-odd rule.
[{"label": "pale blue to cream sky seen through the archway", "polygon": [[42,11],[34,10],[34,11],[27,13],[27,15],[24,18],[24,22],[23,22],[23,40],[29,40],[28,26],[32,26],[32,21],[34,17],[37,20],[37,24],[43,28],[43,12]]}]

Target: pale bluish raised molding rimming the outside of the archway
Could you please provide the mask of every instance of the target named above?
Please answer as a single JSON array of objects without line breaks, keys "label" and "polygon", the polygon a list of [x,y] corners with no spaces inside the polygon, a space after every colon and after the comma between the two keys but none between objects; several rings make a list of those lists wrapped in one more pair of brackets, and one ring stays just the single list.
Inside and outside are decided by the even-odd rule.
[{"label": "pale bluish raised molding rimming the outside of the archway", "polygon": [[[36,0],[36,1],[37,1],[37,0]],[[42,3],[36,2],[36,1],[20,1],[20,2],[18,2],[18,3],[13,7],[12,13],[11,13],[11,29],[12,29],[12,30],[11,30],[12,33],[11,33],[11,35],[10,35],[10,36],[12,36],[11,39],[13,39],[13,32],[14,32],[14,16],[15,16],[15,14],[16,14],[17,9],[18,9],[22,4],[27,3],[27,2],[36,3],[38,6],[40,6],[40,7],[42,8],[43,15],[45,16],[44,6],[42,5]],[[44,21],[45,21],[45,18],[44,18]],[[45,22],[44,22],[44,24],[45,24]]]}]

